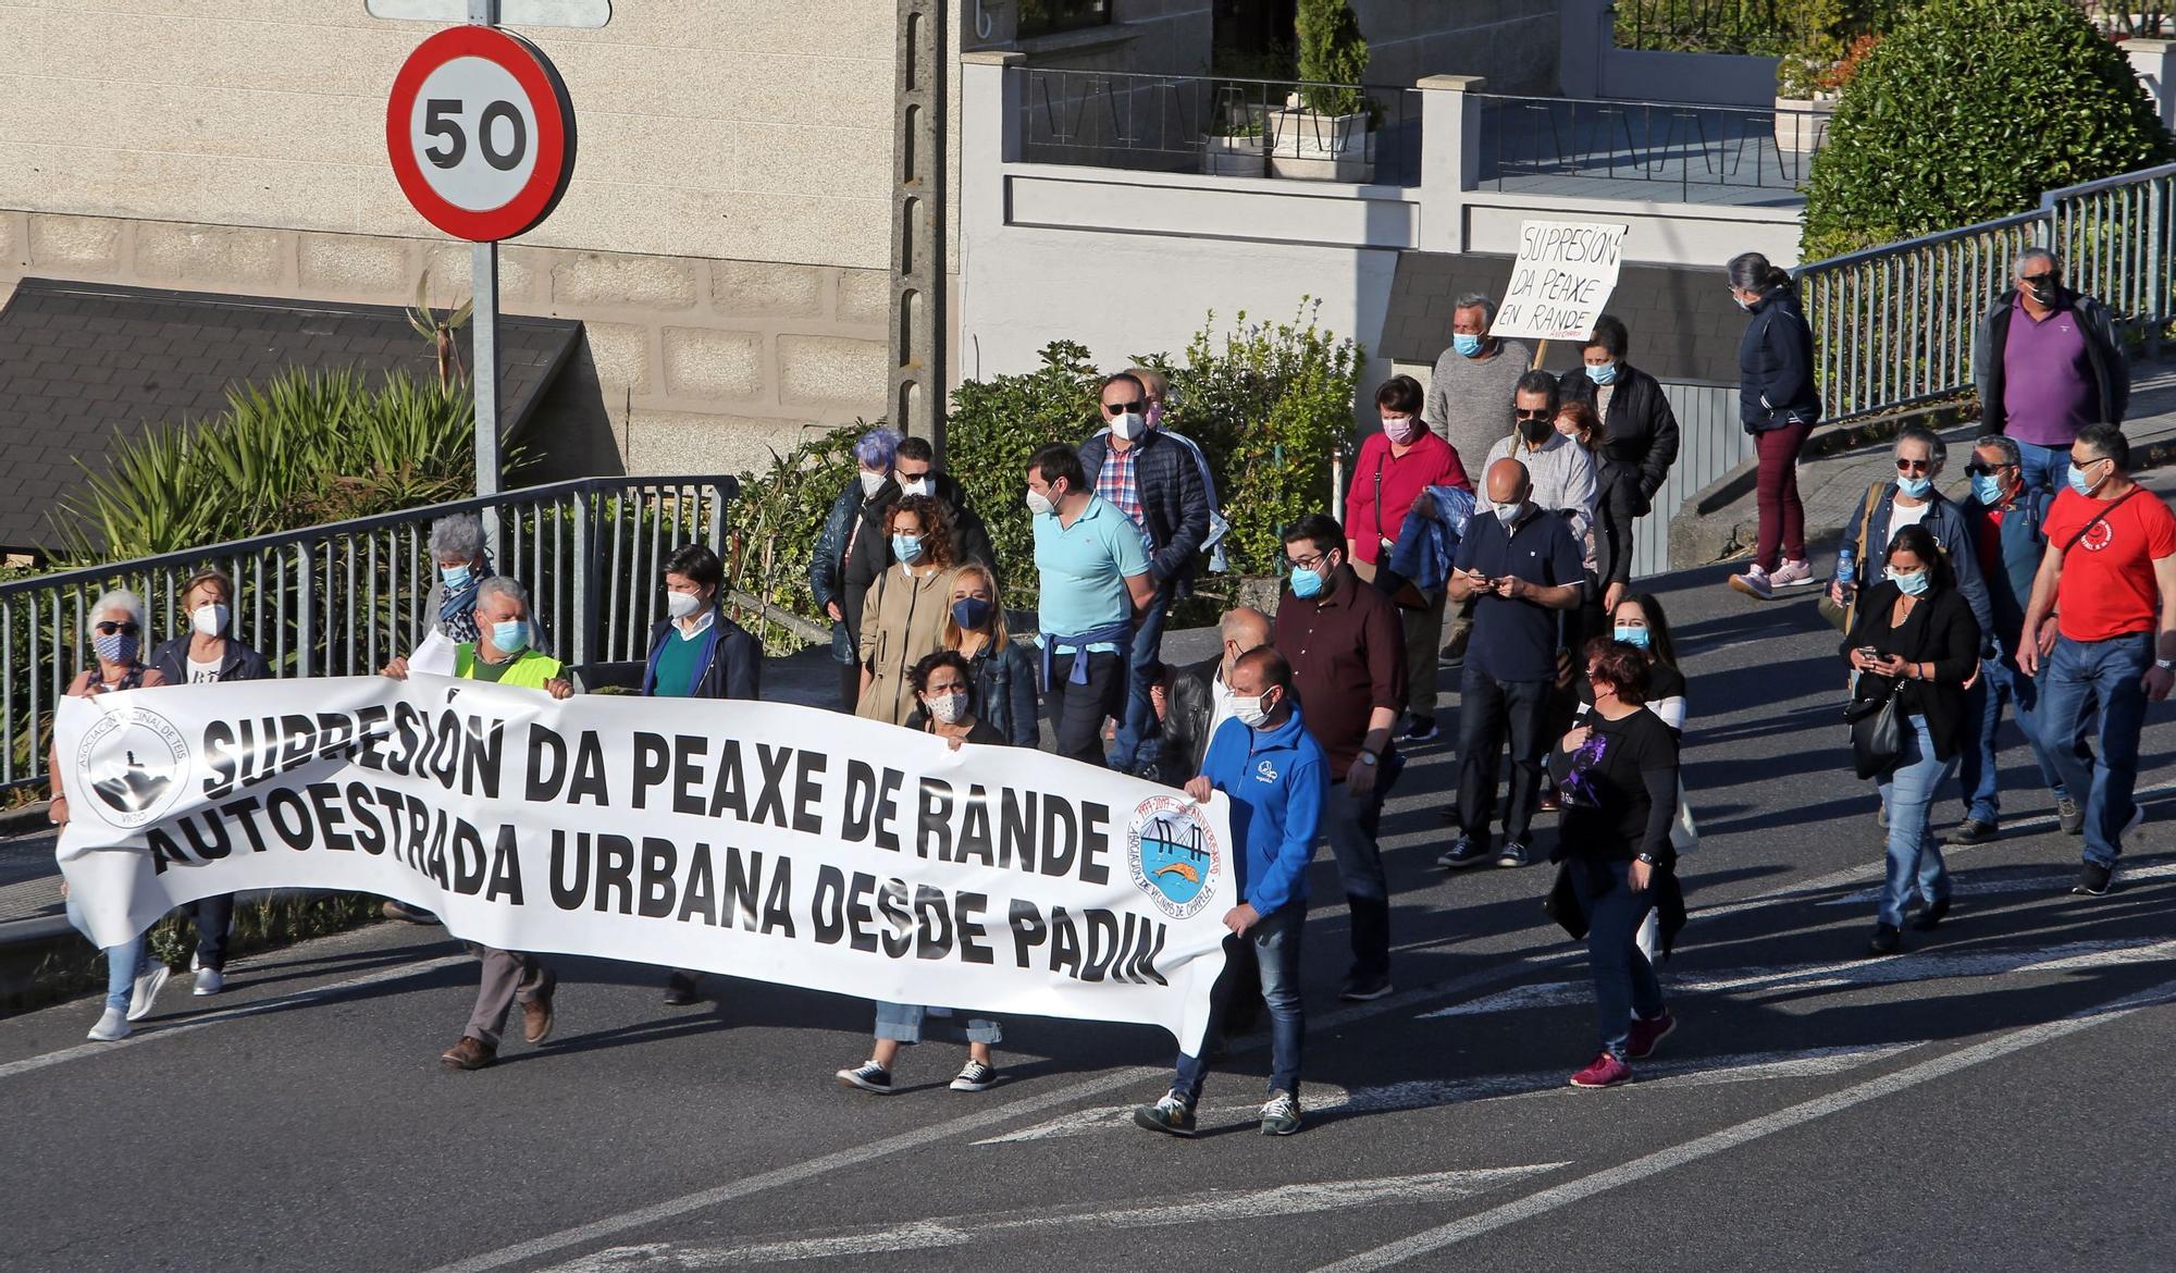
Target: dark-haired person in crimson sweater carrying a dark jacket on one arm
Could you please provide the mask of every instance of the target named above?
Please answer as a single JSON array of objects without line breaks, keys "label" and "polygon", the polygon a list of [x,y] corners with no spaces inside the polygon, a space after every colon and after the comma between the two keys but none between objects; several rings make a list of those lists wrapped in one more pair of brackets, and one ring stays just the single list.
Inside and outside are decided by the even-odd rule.
[{"label": "dark-haired person in crimson sweater carrying a dark jacket on one arm", "polygon": [[[1382,433],[1369,433],[1353,461],[1353,485],[1345,496],[1345,559],[1353,574],[1375,581],[1375,568],[1390,561],[1390,546],[1406,527],[1406,514],[1432,485],[1473,490],[1458,448],[1423,420],[1425,394],[1412,376],[1390,376],[1375,390]],[[1399,607],[1406,625],[1406,742],[1436,738],[1436,646],[1443,640],[1443,594],[1421,596],[1425,607]]]}]

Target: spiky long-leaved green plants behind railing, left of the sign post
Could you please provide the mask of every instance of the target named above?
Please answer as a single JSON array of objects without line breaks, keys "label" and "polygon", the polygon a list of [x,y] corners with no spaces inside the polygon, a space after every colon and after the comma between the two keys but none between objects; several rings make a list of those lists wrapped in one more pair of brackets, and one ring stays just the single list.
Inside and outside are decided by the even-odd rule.
[{"label": "spiky long-leaved green plants behind railing, left of the sign post", "polygon": [[[235,385],[211,420],[122,440],[57,509],[61,555],[148,557],[461,498],[477,490],[474,418],[459,379],[296,368]],[[509,448],[507,472],[520,464]]]}]

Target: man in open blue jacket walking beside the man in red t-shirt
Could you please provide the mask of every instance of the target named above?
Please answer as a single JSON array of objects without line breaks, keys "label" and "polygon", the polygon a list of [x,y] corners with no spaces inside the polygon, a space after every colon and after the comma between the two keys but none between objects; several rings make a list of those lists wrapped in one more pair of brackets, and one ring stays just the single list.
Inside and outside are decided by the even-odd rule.
[{"label": "man in open blue jacket walking beside the man in red t-shirt", "polygon": [[[2004,699],[2017,712],[2017,729],[2032,746],[2041,779],[2054,792],[2056,820],[2065,836],[2085,827],[2085,809],[2063,786],[2063,770],[2041,742],[2039,683],[2017,670],[2017,633],[2026,625],[2026,603],[2032,601],[2032,577],[2048,555],[2041,520],[2048,496],[2026,483],[2024,455],[2015,437],[1987,433],[1971,444],[1971,498],[1965,500],[1965,524],[1987,579],[1987,603],[1995,614],[1995,651],[1980,659],[1980,679],[1965,692],[1965,742],[1956,766],[1956,786],[1965,796],[1965,820],[1950,831],[1950,844],[1980,844],[1995,838],[2002,816],[1995,783],[1995,731],[2002,727]],[[2093,753],[2085,740],[2072,740],[2087,768]]]}]

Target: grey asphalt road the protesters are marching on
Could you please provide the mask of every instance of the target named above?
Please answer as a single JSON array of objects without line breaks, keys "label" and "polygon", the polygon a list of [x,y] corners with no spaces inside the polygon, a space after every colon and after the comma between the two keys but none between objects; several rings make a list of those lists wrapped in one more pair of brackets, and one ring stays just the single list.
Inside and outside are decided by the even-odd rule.
[{"label": "grey asphalt road the protesters are marching on", "polygon": [[477,966],[385,925],[242,962],[218,999],[176,984],[122,1045],[83,1042],[94,1001],[0,1021],[0,1271],[2167,1269],[2172,712],[2111,897],[2067,894],[2078,842],[2013,736],[2006,836],[1954,853],[1952,920],[1865,960],[1882,840],[1834,635],[1721,579],[1665,592],[1704,844],[1680,1029],[1632,1086],[1565,1088],[1593,1005],[1549,870],[1432,866],[1434,744],[1386,818],[1395,997],[1336,1001],[1314,868],[1295,1138],[1256,1132],[1260,1038],[1179,1142],[1125,1121],[1164,1090],[1149,1029],[1012,1021],[997,1088],[949,1092],[938,1042],[879,1099],[831,1079],[866,1003],[712,979],[668,1010],[659,971],[579,960],[551,1042],[444,1073]]}]

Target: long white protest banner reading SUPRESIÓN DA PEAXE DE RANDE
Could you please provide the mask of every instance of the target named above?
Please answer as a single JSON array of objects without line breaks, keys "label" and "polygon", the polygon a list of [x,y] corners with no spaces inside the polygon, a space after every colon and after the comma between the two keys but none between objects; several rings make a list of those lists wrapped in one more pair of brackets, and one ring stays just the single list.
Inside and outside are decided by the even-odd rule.
[{"label": "long white protest banner reading SUPRESI\u00d3N DA PEAXE DE RANDE", "polygon": [[335,888],[459,938],[990,1014],[1208,1027],[1225,796],[781,703],[346,677],[61,703],[100,947]]}]

